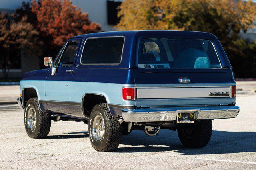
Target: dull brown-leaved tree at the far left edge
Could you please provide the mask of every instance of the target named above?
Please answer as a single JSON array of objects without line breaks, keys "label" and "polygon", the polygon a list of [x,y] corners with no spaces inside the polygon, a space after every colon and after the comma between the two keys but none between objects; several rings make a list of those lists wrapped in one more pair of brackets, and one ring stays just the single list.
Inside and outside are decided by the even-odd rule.
[{"label": "dull brown-leaved tree at the far left edge", "polygon": [[21,49],[31,55],[42,54],[42,41],[38,39],[38,32],[34,26],[26,22],[26,17],[18,22],[15,22],[15,18],[14,14],[0,14],[0,66],[4,78],[7,78],[13,65],[12,61],[17,59]]}]

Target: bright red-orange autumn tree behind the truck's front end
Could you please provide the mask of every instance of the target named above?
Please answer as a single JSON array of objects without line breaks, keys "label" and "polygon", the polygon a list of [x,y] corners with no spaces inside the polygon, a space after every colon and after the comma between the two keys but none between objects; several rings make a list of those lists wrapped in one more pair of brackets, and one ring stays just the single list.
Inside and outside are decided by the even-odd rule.
[{"label": "bright red-orange autumn tree behind the truck's front end", "polygon": [[100,32],[101,26],[91,22],[70,0],[32,0],[32,12],[37,18],[37,29],[52,37],[50,45],[61,46],[75,35]]}]

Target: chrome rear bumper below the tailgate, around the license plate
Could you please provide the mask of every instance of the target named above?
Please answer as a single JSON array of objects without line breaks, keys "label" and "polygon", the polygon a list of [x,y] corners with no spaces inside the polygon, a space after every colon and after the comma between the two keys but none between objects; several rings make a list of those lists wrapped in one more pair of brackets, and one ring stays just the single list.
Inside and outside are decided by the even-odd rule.
[{"label": "chrome rear bumper below the tailgate, around the license plate", "polygon": [[177,113],[194,112],[196,120],[227,119],[236,117],[239,111],[238,106],[122,109],[122,117],[126,122],[174,121]]}]

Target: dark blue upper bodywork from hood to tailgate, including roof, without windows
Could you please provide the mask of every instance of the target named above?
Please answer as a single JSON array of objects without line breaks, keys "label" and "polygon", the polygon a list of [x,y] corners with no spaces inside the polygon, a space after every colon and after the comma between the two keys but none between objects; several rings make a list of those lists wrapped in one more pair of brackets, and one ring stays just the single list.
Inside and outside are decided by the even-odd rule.
[{"label": "dark blue upper bodywork from hood to tailgate, including roof, without windows", "polygon": [[[122,53],[121,63],[118,65],[82,65],[80,57],[87,38],[91,37],[124,37],[124,49]],[[220,69],[150,69],[157,73],[157,76],[148,74],[147,69],[135,69],[137,62],[137,44],[141,38],[184,38],[184,39],[206,39],[212,41],[218,53],[222,68]],[[216,82],[234,82],[231,75],[231,65],[228,60],[222,45],[218,39],[210,34],[195,31],[164,31],[164,30],[148,30],[148,31],[113,31],[102,33],[91,33],[86,35],[78,35],[68,39],[81,38],[79,49],[77,51],[76,61],[73,64],[74,74],[72,77],[67,77],[64,74],[60,75],[60,70],[57,69],[57,74],[61,78],[54,79],[50,76],[49,69],[36,70],[22,75],[22,80],[61,80],[61,81],[77,81],[77,82],[105,82],[105,83],[120,83],[120,84],[148,84],[148,83],[175,83],[177,77],[190,76],[194,77],[192,81],[195,83],[216,83]],[[230,69],[226,69],[230,68]],[[159,72],[162,72],[161,74]],[[169,73],[167,73],[169,72]],[[170,72],[173,72],[170,74]],[[174,74],[174,72],[176,72]],[[189,72],[189,73],[188,73]],[[196,74],[197,72],[197,74]],[[200,72],[200,76],[198,75]],[[223,74],[221,74],[221,72]],[[225,73],[224,73],[225,72]],[[154,73],[154,74],[155,74]],[[166,76],[168,74],[168,76]],[[142,76],[143,75],[143,76]],[[193,76],[194,75],[194,76]],[[220,76],[221,75],[221,76]],[[211,76],[207,79],[206,77]],[[47,78],[48,77],[48,78]],[[203,78],[204,77],[204,78]]]}]

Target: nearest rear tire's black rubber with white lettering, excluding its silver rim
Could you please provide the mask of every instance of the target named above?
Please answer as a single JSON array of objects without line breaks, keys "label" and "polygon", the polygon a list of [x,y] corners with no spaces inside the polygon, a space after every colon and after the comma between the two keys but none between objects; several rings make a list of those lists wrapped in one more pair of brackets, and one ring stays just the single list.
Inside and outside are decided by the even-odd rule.
[{"label": "nearest rear tire's black rubber with white lettering, excluding its silver rim", "polygon": [[[104,136],[100,141],[97,141],[93,135],[93,121],[96,116],[100,115],[104,121]],[[92,147],[98,152],[110,152],[118,148],[122,138],[122,127],[117,118],[112,117],[108,109],[108,104],[97,104],[93,107],[90,114],[89,137]]]}]

